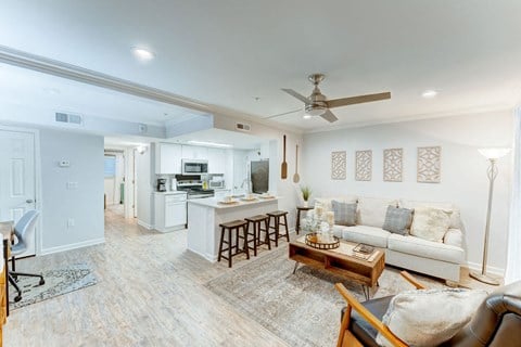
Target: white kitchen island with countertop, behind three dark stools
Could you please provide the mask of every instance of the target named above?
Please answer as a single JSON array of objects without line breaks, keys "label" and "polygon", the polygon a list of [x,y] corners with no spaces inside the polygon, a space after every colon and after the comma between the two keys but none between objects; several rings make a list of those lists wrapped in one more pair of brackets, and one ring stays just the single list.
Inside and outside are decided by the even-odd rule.
[{"label": "white kitchen island with countertop, behind three dark stools", "polygon": [[279,200],[280,197],[256,197],[226,204],[215,197],[188,201],[188,249],[209,261],[216,261],[220,223],[275,211],[279,209]]}]

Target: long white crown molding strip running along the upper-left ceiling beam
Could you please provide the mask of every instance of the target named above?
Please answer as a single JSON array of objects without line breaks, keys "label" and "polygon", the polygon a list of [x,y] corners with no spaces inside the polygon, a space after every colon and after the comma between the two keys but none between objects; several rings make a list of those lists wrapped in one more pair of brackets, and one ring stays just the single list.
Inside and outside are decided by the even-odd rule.
[{"label": "long white crown molding strip running along the upper-left ceiling beam", "polygon": [[48,75],[76,80],[82,83],[115,90],[135,97],[164,102],[176,106],[192,108],[201,112],[209,111],[208,107],[203,103],[199,103],[194,100],[176,95],[161,89],[135,83],[126,79],[105,75],[41,55],[18,51],[5,46],[0,46],[0,62]]}]

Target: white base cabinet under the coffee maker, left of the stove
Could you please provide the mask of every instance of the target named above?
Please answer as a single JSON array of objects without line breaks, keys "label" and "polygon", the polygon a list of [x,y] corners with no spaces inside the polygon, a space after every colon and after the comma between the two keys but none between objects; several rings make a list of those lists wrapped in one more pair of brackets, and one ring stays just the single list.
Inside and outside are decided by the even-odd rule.
[{"label": "white base cabinet under the coffee maker, left of the stove", "polygon": [[187,193],[154,193],[155,230],[168,232],[187,224]]}]

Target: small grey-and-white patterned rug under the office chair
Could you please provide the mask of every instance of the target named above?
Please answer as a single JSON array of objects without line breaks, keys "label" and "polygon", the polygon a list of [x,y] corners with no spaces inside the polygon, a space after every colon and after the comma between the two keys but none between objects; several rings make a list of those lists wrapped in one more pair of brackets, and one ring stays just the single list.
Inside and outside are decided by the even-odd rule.
[{"label": "small grey-and-white patterned rug under the office chair", "polygon": [[9,285],[9,307],[12,310],[97,283],[92,269],[85,264],[73,265],[66,269],[49,270],[42,274],[43,280],[46,280],[43,285],[38,284],[39,278],[18,277],[17,284],[22,290],[22,300],[17,303],[13,301],[17,292],[11,284]]}]

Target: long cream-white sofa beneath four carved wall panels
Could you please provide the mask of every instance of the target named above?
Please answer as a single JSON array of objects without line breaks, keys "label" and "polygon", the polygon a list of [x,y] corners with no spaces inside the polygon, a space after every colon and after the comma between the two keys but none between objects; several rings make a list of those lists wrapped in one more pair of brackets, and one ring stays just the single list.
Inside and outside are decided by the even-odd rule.
[{"label": "long cream-white sofa beneath four carved wall panels", "polygon": [[[315,198],[315,206],[332,210],[331,201],[357,203],[356,226],[333,226],[334,235],[346,241],[366,243],[385,249],[385,264],[459,281],[459,270],[465,261],[463,233],[459,209],[448,203],[414,202],[406,200],[340,196]],[[428,206],[450,210],[450,226],[443,242],[423,240],[410,234],[401,235],[382,229],[387,206],[415,208]]]}]

